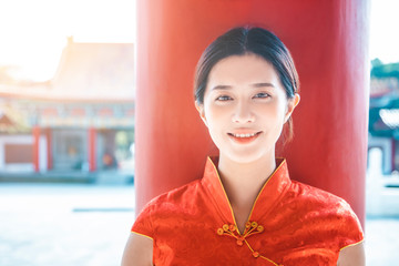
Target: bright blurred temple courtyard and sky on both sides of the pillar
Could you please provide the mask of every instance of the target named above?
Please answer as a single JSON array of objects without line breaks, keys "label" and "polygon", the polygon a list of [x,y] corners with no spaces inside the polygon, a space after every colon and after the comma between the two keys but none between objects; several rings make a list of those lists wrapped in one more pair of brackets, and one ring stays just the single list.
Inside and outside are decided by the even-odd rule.
[{"label": "bright blurred temple courtyard and sky on both sides of the pillar", "polygon": [[[368,265],[399,260],[397,10],[371,0]],[[0,0],[0,265],[120,265],[134,43],[134,0]]]}]

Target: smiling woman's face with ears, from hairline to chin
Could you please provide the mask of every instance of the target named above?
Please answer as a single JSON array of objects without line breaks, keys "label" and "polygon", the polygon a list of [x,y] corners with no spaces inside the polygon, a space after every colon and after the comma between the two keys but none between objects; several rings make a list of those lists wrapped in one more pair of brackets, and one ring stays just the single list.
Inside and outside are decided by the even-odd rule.
[{"label": "smiling woman's face with ears, from hairline to chin", "polygon": [[298,95],[287,100],[273,65],[249,53],[214,65],[197,110],[221,156],[249,163],[274,158],[283,125],[298,102]]}]

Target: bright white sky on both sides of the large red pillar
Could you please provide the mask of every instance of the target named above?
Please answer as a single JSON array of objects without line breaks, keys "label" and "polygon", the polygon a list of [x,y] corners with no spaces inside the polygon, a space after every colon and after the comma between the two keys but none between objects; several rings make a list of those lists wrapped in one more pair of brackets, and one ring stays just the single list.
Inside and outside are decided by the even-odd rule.
[{"label": "bright white sky on both sides of the large red pillar", "polygon": [[[399,62],[399,1],[370,1],[370,59]],[[0,0],[0,66],[18,66],[17,78],[51,79],[70,35],[134,42],[135,0]]]}]

